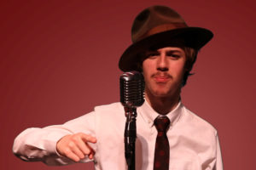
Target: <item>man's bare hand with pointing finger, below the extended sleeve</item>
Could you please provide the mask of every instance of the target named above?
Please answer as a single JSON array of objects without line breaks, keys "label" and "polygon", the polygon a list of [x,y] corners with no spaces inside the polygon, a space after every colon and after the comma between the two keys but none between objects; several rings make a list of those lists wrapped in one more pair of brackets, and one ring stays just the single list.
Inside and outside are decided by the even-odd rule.
[{"label": "man's bare hand with pointing finger, below the extended sleeve", "polygon": [[80,161],[85,156],[92,159],[95,155],[95,150],[88,143],[95,144],[96,138],[84,133],[69,134],[57,142],[56,150],[61,156],[66,156],[73,161]]}]

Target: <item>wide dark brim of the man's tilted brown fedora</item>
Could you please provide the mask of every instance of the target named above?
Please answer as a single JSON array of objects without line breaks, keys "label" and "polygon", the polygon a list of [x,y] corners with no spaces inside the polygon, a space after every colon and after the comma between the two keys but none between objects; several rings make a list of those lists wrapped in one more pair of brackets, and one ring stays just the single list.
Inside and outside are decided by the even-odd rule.
[{"label": "wide dark brim of the man's tilted brown fedora", "polygon": [[185,27],[146,37],[128,47],[119,59],[121,71],[136,71],[137,62],[146,51],[164,47],[189,47],[199,50],[213,37],[212,31],[200,27]]}]

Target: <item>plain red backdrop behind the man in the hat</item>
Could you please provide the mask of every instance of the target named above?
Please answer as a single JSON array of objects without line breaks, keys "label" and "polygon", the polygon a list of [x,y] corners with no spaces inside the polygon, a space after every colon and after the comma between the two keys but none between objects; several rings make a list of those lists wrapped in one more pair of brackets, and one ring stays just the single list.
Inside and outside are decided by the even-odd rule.
[{"label": "plain red backdrop behind the man in the hat", "polygon": [[0,3],[0,169],[93,169],[20,161],[12,144],[26,127],[60,124],[119,101],[119,56],[131,43],[135,16],[154,4],[214,32],[183,103],[218,129],[225,169],[256,169],[253,0],[88,2]]}]

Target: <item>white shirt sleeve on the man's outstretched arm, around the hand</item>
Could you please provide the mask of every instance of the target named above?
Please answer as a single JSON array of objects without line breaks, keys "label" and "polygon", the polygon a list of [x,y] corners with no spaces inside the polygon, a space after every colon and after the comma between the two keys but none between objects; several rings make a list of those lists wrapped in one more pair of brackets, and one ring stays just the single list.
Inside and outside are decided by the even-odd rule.
[{"label": "white shirt sleeve on the man's outstretched arm, around the hand", "polygon": [[[67,165],[74,161],[60,156],[56,143],[62,137],[73,133],[86,133],[96,137],[95,112],[90,112],[62,125],[27,128],[20,133],[13,145],[13,152],[23,161],[43,161],[47,165]],[[96,150],[96,144],[90,144]],[[92,161],[85,157],[81,162]]]}]

